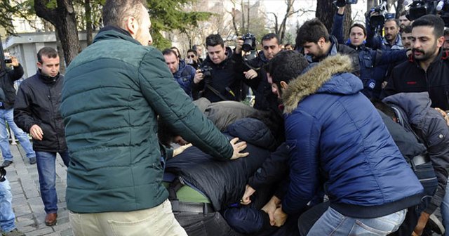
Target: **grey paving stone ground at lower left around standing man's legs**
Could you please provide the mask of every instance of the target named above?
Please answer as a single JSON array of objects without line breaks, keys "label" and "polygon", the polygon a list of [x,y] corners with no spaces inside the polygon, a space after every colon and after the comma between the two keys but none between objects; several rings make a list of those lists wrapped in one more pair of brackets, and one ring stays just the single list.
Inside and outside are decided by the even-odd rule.
[{"label": "grey paving stone ground at lower left around standing man's legs", "polygon": [[[58,194],[58,223],[51,227],[45,225],[45,211],[39,192],[39,176],[36,164],[29,164],[20,144],[10,145],[13,164],[6,167],[6,178],[11,183],[15,226],[27,236],[72,236],[69,224],[69,211],[65,203],[67,187],[67,167],[62,159],[56,158],[56,192]],[[3,159],[0,163],[3,162]]]}]

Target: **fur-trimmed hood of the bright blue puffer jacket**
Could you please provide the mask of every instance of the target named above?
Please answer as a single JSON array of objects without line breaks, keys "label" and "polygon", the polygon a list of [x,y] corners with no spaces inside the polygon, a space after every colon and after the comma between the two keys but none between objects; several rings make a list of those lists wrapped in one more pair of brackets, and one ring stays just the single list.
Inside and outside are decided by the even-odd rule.
[{"label": "fur-trimmed hood of the bright blue puffer jacket", "polygon": [[353,94],[363,89],[363,84],[352,70],[351,59],[347,55],[330,56],[310,70],[288,83],[283,93],[284,113],[296,109],[298,103],[314,93]]}]

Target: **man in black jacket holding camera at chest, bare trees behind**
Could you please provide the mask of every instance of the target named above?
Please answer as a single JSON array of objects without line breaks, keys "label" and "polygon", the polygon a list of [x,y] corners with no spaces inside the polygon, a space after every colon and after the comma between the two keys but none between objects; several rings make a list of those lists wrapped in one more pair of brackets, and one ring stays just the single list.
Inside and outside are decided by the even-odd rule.
[{"label": "man in black jacket holding camera at chest, bare trees behind", "polygon": [[194,83],[200,96],[215,103],[221,100],[241,100],[243,74],[237,74],[239,63],[232,58],[231,48],[225,47],[220,34],[206,38],[208,56],[196,71]]}]

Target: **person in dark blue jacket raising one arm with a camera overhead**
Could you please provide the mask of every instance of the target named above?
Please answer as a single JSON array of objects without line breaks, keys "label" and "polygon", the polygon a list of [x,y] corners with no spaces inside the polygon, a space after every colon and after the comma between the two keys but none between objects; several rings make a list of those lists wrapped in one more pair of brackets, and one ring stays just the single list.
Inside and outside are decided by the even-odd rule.
[{"label": "person in dark blue jacket raising one arm with a camera overhead", "polygon": [[[344,6],[338,8],[334,16],[332,34],[340,44],[343,44]],[[366,46],[366,28],[361,24],[354,24],[349,28],[349,39],[346,45],[354,48],[358,53],[360,63],[360,79],[363,91],[368,98],[379,98],[382,82],[387,73],[388,65],[407,60],[406,50],[373,50]]]}]

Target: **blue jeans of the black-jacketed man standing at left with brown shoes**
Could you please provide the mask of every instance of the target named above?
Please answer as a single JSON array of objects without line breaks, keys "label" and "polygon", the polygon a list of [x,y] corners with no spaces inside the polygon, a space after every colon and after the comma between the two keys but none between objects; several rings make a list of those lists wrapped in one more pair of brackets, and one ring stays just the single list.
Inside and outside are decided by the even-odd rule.
[{"label": "blue jeans of the black-jacketed man standing at left with brown shoes", "polygon": [[[59,152],[65,166],[69,165],[69,151]],[[37,172],[41,197],[46,214],[58,212],[58,196],[56,195],[56,152],[36,151]]]}]

